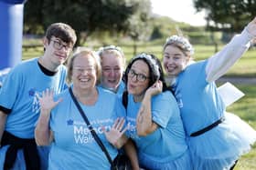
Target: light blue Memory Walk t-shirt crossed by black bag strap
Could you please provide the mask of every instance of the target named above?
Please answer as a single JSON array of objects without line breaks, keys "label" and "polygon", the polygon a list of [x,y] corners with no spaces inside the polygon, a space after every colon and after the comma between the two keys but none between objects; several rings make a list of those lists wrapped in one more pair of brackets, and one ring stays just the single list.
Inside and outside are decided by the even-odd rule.
[{"label": "light blue Memory Walk t-shirt crossed by black bag strap", "polygon": [[[123,115],[124,108],[116,95],[101,87],[97,89],[97,102],[94,105],[80,106],[113,159],[117,155],[117,149],[107,141],[101,126],[109,130],[117,116]],[[49,169],[110,169],[107,157],[91,135],[69,95],[69,90],[57,97],[61,97],[63,101],[52,110],[50,116],[54,141],[49,154]]]}]

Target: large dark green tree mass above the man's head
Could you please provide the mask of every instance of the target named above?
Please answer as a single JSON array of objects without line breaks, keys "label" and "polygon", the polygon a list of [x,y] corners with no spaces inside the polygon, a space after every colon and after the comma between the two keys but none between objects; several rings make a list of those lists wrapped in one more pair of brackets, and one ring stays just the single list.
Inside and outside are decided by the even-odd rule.
[{"label": "large dark green tree mass above the man's head", "polygon": [[129,18],[139,11],[140,3],[139,0],[28,0],[25,25],[33,33],[40,26],[45,29],[51,23],[64,22],[72,25],[82,44],[97,31],[129,31]]}]

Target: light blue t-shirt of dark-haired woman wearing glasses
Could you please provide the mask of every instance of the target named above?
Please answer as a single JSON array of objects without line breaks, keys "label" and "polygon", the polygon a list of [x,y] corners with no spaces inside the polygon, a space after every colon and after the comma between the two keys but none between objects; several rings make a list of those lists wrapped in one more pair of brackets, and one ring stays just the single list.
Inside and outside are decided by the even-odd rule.
[{"label": "light blue t-shirt of dark-haired woman wearing glasses", "polygon": [[127,123],[130,127],[126,135],[137,145],[139,156],[146,156],[158,163],[175,160],[187,151],[185,132],[176,99],[169,91],[152,98],[152,117],[159,127],[150,135],[138,136],[136,117],[141,103],[133,102],[128,95]]}]

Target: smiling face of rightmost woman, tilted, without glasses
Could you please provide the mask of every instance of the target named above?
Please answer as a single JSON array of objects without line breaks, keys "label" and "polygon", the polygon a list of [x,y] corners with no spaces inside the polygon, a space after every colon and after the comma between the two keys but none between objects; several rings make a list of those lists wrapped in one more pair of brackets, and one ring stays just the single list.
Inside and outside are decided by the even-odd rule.
[{"label": "smiling face of rightmost woman, tilted, without glasses", "polygon": [[167,45],[164,50],[163,64],[165,72],[170,77],[175,77],[186,68],[189,56],[185,55],[175,45]]}]

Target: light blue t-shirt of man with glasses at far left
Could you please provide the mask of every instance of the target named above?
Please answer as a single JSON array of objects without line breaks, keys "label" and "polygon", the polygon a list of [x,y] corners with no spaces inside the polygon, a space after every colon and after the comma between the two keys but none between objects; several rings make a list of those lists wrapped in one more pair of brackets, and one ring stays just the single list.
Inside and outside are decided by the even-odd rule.
[{"label": "light blue t-shirt of man with glasses at far left", "polygon": [[5,123],[5,130],[21,138],[33,138],[39,114],[36,95],[53,89],[57,94],[65,88],[66,67],[59,65],[56,75],[45,75],[33,58],[16,65],[5,77],[0,88],[0,105],[11,109]]}]

